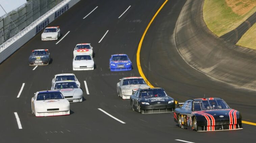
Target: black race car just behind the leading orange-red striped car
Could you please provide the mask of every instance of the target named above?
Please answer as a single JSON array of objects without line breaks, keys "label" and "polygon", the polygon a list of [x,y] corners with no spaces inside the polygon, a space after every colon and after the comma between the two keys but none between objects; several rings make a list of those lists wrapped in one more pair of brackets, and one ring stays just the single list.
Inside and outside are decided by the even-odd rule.
[{"label": "black race car just behind the leading orange-red striped car", "polygon": [[175,108],[174,99],[162,88],[137,89],[130,97],[130,105],[142,114],[173,112]]}]

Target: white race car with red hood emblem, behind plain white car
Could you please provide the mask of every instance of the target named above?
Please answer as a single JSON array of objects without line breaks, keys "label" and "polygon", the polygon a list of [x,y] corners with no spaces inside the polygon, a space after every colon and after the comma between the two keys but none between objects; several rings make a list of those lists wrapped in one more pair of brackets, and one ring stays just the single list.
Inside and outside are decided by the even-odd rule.
[{"label": "white race car with red hood emblem, behind plain white car", "polygon": [[93,47],[91,46],[90,43],[76,44],[76,47],[73,51],[74,57],[80,53],[87,53],[87,54],[93,56]]}]

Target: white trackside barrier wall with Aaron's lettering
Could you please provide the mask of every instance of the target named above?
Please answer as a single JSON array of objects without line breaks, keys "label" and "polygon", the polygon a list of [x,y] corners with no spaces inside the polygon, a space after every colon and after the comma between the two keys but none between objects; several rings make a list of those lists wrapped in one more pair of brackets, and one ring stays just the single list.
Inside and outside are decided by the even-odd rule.
[{"label": "white trackside barrier wall with Aaron's lettering", "polygon": [[4,42],[0,47],[0,63],[7,59],[11,54],[27,43],[37,33],[42,31],[49,23],[65,13],[80,0],[64,0],[47,13],[32,22],[28,27],[19,32],[14,37]]}]

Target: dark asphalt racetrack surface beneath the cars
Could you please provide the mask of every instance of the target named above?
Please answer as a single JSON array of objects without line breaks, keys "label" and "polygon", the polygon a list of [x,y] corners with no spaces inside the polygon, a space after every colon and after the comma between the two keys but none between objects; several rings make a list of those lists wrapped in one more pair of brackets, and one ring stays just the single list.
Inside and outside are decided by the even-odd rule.
[{"label": "dark asphalt racetrack surface beneath the cars", "polygon": [[[184,130],[173,121],[172,113],[140,114],[132,111],[129,100],[117,96],[119,79],[139,76],[136,67],[138,42],[163,2],[82,0],[49,25],[60,26],[62,37],[70,31],[62,41],[58,44],[58,41],[41,41],[41,32],[2,62],[0,142],[180,142],[175,139],[195,143],[253,142],[255,126],[243,124],[244,130],[222,132]],[[203,94],[221,97],[242,113],[243,120],[255,122],[254,91],[214,81],[190,67],[179,55],[172,34],[185,2],[169,0],[152,23],[140,51],[144,74],[151,84],[164,88],[179,102],[203,97]],[[96,6],[98,8],[83,19]],[[77,43],[91,43],[94,47],[94,70],[72,70],[73,49]],[[36,68],[28,66],[28,57],[33,49],[49,49],[52,62]],[[110,72],[108,60],[111,54],[122,53],[129,56],[133,69]],[[52,78],[60,73],[76,75],[84,101],[71,103],[68,116],[33,116],[33,93],[50,89]],[[83,81],[87,83],[88,94]],[[24,89],[17,98],[23,83]],[[18,128],[14,112],[19,115],[22,129]]]}]

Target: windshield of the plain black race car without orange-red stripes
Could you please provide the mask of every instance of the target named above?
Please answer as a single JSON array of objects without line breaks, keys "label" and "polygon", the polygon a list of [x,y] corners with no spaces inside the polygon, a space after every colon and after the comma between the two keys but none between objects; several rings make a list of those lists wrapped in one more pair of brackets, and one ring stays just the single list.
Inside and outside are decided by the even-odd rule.
[{"label": "windshield of the plain black race car without orange-red stripes", "polygon": [[167,96],[165,91],[163,89],[147,89],[140,91],[141,98],[147,98],[147,97],[164,97]]}]

